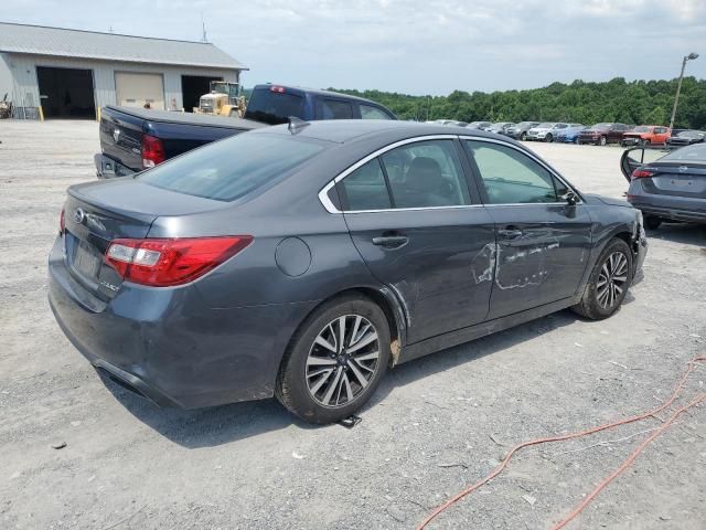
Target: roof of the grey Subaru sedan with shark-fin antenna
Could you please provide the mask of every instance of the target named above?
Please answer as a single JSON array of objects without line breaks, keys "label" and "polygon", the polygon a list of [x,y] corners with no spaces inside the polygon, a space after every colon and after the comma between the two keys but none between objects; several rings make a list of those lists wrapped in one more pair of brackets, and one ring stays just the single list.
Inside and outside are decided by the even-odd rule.
[{"label": "roof of the grey Subaru sedan with shark-fin antenna", "polygon": [[[393,119],[331,119],[313,120],[301,124],[295,135],[302,138],[345,144],[365,136],[389,136],[395,139],[411,138],[415,136],[475,136],[485,138],[502,138],[504,141],[513,141],[507,137],[467,127],[449,127],[440,124],[422,124],[415,121],[399,121]],[[254,134],[290,135],[289,125],[276,125],[257,129]]]}]

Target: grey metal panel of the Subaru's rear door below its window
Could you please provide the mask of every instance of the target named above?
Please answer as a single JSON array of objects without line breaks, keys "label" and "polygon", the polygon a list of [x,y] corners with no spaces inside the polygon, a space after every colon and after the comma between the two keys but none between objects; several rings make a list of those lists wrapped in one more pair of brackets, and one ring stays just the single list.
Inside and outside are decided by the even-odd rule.
[{"label": "grey metal panel of the Subaru's rear door below its window", "polygon": [[[488,316],[494,225],[482,206],[345,213],[351,237],[373,276],[399,300],[407,343],[472,326]],[[385,234],[408,242],[374,243]],[[492,267],[491,267],[492,269]]]}]

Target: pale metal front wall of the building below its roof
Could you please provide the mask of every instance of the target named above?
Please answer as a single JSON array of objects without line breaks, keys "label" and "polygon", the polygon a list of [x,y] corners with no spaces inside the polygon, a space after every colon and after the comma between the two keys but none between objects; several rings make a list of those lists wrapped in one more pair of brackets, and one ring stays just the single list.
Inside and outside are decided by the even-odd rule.
[{"label": "pale metal front wall of the building below its roof", "polygon": [[[4,92],[9,92],[13,105],[17,107],[39,106],[40,93],[36,80],[36,66],[54,66],[64,68],[87,68],[93,71],[94,94],[96,107],[104,105],[115,105],[115,72],[142,72],[162,74],[164,80],[164,103],[169,107],[172,98],[176,100],[176,107],[183,106],[181,94],[182,75],[203,75],[207,77],[223,77],[232,83],[238,82],[238,71],[200,68],[194,66],[172,66],[160,64],[141,64],[113,61],[93,61],[73,57],[52,57],[42,55],[24,54],[0,54],[9,71],[10,82],[6,84],[8,88],[0,91],[0,98]],[[6,74],[7,76],[7,74]],[[0,89],[3,80],[2,66],[0,65]]]}]

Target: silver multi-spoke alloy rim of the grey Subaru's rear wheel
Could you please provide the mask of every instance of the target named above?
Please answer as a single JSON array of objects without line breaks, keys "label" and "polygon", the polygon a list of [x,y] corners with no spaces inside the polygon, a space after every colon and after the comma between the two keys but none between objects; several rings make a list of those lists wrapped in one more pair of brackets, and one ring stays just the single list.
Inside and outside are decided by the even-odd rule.
[{"label": "silver multi-spoke alloy rim of the grey Subaru's rear wheel", "polygon": [[375,326],[360,315],[331,320],[309,350],[306,378],[317,403],[340,407],[354,401],[375,377],[379,337]]}]

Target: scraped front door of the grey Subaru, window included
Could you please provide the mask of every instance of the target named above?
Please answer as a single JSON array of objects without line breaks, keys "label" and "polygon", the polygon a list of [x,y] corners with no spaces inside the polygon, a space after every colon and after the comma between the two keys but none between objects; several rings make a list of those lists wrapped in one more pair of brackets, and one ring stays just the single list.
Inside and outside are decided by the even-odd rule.
[{"label": "scraped front door of the grey Subaru, window included", "polygon": [[591,245],[591,220],[569,188],[514,146],[466,141],[481,194],[495,222],[496,255],[489,318],[574,296]]}]

